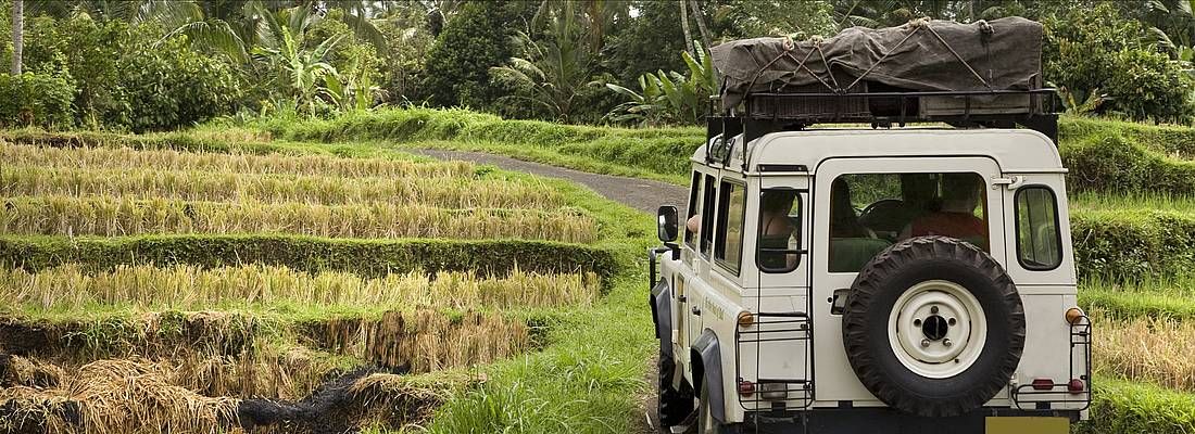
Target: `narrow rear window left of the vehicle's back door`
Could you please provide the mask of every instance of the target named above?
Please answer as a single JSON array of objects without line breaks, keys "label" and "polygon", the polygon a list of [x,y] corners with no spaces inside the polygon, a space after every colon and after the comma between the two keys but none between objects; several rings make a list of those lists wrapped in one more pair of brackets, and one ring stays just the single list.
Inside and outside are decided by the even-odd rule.
[{"label": "narrow rear window left of the vehicle's back door", "polygon": [[801,264],[801,197],[796,190],[760,193],[755,244],[755,262],[765,273],[788,273]]}]

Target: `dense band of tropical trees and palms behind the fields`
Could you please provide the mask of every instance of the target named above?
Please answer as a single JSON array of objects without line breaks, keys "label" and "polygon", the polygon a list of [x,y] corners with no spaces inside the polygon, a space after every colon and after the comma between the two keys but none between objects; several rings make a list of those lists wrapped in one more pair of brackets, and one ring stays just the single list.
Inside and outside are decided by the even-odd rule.
[{"label": "dense band of tropical trees and palms behind the fields", "polygon": [[[694,72],[724,41],[1007,16],[1047,26],[1044,81],[1068,112],[1189,123],[1188,0],[26,0],[25,70],[74,86],[69,124],[185,128],[379,105],[566,123],[694,124]],[[11,1],[0,1],[11,21]],[[4,26],[2,41],[13,29]],[[686,56],[691,61],[686,61]],[[11,61],[12,44],[0,48]],[[715,86],[705,86],[706,82]],[[11,91],[16,92],[16,91]],[[31,123],[62,128],[56,120]]]}]

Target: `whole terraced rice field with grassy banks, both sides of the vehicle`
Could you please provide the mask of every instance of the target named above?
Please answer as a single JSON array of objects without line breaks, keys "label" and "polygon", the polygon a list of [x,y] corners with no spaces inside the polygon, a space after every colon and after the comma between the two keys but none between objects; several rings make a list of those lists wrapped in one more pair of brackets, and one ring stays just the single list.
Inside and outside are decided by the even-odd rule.
[{"label": "whole terraced rice field with grassy banks, both sides of the vehicle", "polygon": [[[430,110],[0,134],[0,430],[633,432],[650,218],[390,147],[682,182],[701,136]],[[1096,320],[1077,433],[1195,432],[1191,149],[1191,129],[1064,119]]]}]

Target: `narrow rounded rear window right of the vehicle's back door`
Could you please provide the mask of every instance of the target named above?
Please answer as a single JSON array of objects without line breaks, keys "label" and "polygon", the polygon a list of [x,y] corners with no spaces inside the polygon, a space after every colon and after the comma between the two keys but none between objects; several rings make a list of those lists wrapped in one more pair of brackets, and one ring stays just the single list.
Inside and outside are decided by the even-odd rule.
[{"label": "narrow rounded rear window right of the vehicle's back door", "polygon": [[1044,186],[1017,190],[1017,260],[1025,269],[1049,271],[1062,264],[1058,198]]}]

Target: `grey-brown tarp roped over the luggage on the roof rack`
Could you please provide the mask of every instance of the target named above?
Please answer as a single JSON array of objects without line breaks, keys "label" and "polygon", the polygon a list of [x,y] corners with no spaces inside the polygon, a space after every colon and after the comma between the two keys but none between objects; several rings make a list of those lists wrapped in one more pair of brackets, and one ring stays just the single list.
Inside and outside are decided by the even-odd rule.
[{"label": "grey-brown tarp roped over the luggage on the roof rack", "polygon": [[1017,17],[972,24],[915,20],[852,27],[820,42],[754,38],[710,50],[725,83],[725,108],[747,92],[846,89],[865,72],[865,81],[914,91],[1031,89],[1041,86],[1041,51],[1042,25]]}]

